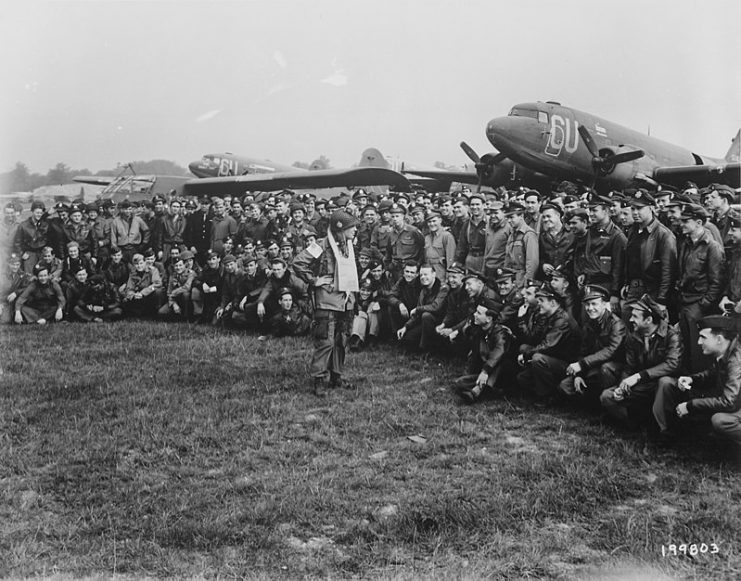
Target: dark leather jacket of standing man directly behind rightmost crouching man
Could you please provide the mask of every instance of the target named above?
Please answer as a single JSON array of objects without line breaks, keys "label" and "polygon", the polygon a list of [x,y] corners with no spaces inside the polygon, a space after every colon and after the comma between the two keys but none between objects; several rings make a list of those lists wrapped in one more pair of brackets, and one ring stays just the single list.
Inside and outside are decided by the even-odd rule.
[{"label": "dark leather jacket of standing man directly behind rightmost crouching man", "polygon": [[705,310],[718,304],[723,289],[723,260],[723,249],[709,232],[704,231],[696,243],[685,238],[677,282],[682,304],[699,301]]}]

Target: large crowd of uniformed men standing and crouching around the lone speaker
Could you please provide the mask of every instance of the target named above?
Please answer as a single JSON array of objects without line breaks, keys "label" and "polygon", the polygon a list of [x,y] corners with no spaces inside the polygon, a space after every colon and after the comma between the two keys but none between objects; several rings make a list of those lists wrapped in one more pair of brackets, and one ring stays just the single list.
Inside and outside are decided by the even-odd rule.
[{"label": "large crowd of uniformed men standing and crouching around the lone speaker", "polygon": [[557,190],[156,196],[57,204],[53,216],[34,202],[23,221],[8,204],[2,319],[304,335],[316,289],[295,257],[342,208],[359,221],[351,349],[398,341],[468,357],[456,382],[468,401],[516,385],[540,407],[580,399],[665,438],[710,417],[741,445],[736,192]]}]

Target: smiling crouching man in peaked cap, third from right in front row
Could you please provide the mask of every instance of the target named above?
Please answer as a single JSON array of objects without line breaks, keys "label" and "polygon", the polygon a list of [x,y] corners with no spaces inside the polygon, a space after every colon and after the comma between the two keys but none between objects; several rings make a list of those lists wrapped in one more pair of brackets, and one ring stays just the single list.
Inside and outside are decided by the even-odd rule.
[{"label": "smiling crouching man in peaked cap, third from right in front row", "polygon": [[582,302],[587,320],[582,326],[579,358],[571,358],[558,391],[566,397],[586,395],[596,403],[602,391],[615,385],[620,376],[626,330],[622,319],[610,310],[607,289],[584,287]]}]

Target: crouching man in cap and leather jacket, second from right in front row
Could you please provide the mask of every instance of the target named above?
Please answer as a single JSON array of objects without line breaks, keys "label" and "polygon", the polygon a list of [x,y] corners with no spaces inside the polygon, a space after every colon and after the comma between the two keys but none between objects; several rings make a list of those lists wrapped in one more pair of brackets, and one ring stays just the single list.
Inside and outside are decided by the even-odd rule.
[{"label": "crouching man in cap and leather jacket, second from right in front row", "polygon": [[679,371],[682,340],[666,321],[666,309],[649,295],[628,308],[632,332],[625,338],[622,380],[602,392],[600,403],[610,416],[633,427],[650,417],[659,380]]}]

